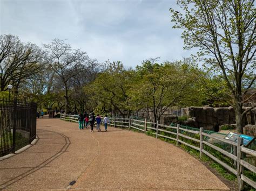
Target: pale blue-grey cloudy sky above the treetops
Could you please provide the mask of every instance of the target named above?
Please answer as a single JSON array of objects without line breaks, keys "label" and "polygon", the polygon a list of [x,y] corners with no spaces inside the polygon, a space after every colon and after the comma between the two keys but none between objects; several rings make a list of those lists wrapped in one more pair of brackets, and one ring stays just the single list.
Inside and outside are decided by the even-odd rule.
[{"label": "pale blue-grey cloudy sky above the treetops", "polygon": [[170,8],[179,10],[176,0],[0,0],[0,33],[38,46],[67,39],[90,58],[135,67],[191,54],[183,50],[181,30],[172,29]]}]

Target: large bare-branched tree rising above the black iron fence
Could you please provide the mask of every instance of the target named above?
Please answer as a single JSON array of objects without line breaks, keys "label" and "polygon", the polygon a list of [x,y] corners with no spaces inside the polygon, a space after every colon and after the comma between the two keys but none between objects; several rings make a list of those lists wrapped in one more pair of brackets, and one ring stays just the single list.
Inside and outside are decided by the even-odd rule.
[{"label": "large bare-branched tree rising above the black iron fence", "polygon": [[17,90],[26,79],[41,72],[41,49],[35,44],[21,43],[18,37],[0,36],[1,91],[12,83]]}]

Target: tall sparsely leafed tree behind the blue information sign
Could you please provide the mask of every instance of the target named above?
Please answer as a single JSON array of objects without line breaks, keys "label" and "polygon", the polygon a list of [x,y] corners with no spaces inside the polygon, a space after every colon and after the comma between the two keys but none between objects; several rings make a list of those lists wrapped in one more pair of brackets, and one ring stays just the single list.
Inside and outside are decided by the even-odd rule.
[{"label": "tall sparsely leafed tree behind the blue information sign", "polygon": [[[183,29],[185,49],[199,48],[206,66],[221,73],[233,98],[237,131],[242,133],[243,97],[255,86],[254,0],[179,0],[170,9],[174,28]],[[252,108],[250,108],[252,109]]]}]

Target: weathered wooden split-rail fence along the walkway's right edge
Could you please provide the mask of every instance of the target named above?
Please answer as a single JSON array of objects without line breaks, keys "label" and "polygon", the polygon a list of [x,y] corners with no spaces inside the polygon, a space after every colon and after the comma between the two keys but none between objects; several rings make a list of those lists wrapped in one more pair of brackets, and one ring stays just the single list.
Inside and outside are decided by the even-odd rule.
[{"label": "weathered wooden split-rail fence along the walkway's right edge", "polygon": [[[78,122],[78,116],[76,115],[60,115],[61,119],[64,119],[66,121],[73,121],[73,122]],[[137,120],[137,119],[131,119],[131,118],[110,118],[110,125],[116,127],[122,127],[122,128],[127,128],[129,130],[135,129],[137,131],[141,131],[146,133],[147,131],[151,131],[153,135],[158,137],[163,137],[167,139],[171,139],[176,141],[176,144],[184,144],[186,146],[189,146],[191,148],[194,148],[195,150],[198,150],[200,152],[200,158],[202,157],[203,153],[206,154],[208,157],[213,159],[214,161],[218,162],[221,166],[226,168],[228,171],[232,172],[237,176],[237,181],[238,181],[238,188],[241,190],[243,187],[243,183],[246,182],[248,185],[251,185],[253,188],[256,188],[256,182],[245,176],[244,174],[244,168],[248,169],[248,171],[251,171],[253,173],[256,173],[256,167],[249,164],[245,160],[243,160],[244,154],[251,155],[252,157],[256,157],[256,151],[248,149],[242,145],[242,138],[238,138],[238,142],[231,142],[230,140],[226,140],[224,138],[219,138],[214,135],[209,135],[204,132],[203,128],[200,128],[199,131],[194,131],[194,130],[189,130],[185,128],[181,128],[179,125],[177,126],[167,126],[163,124],[157,123],[152,123],[152,122],[147,122],[147,119],[144,121],[142,120]],[[161,135],[165,132],[168,135]],[[181,133],[183,132],[183,133]],[[197,135],[197,138],[184,135],[184,132],[189,133],[190,135]],[[215,146],[214,144],[205,141],[205,138],[210,138],[211,140],[217,140],[218,142],[226,143],[232,145],[237,152],[227,152],[223,148],[220,148],[218,146]],[[185,142],[184,139],[189,139],[192,140],[193,142],[198,143],[198,146],[191,145],[190,142]],[[213,142],[213,141],[212,141]],[[204,147],[208,146],[211,147],[213,150],[220,152],[221,154],[225,155],[226,157],[232,159],[235,164],[235,168],[227,165],[224,161],[221,161],[217,157],[214,157],[210,152],[207,152]]]}]

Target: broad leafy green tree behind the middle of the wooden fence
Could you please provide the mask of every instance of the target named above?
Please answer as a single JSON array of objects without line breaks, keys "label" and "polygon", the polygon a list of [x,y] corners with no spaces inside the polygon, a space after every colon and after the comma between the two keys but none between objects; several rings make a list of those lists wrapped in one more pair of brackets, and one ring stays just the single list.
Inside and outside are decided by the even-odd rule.
[{"label": "broad leafy green tree behind the middle of the wooden fence", "polygon": [[168,108],[181,104],[191,82],[187,65],[147,60],[137,66],[137,83],[130,91],[132,101],[140,109],[146,109],[151,122],[156,122]]}]

